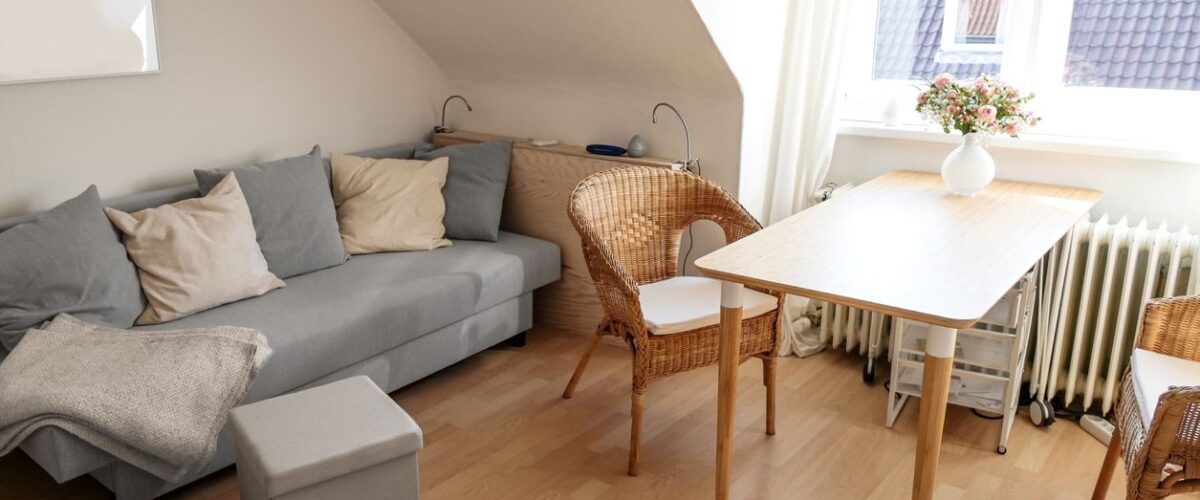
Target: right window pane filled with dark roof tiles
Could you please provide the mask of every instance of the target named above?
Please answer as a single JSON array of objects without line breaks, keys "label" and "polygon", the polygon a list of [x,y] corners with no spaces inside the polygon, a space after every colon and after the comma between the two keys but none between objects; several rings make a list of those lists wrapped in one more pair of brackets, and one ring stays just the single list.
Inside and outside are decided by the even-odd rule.
[{"label": "right window pane filled with dark roof tiles", "polygon": [[1200,8],[1181,0],[1075,0],[1063,83],[1200,90]]}]

